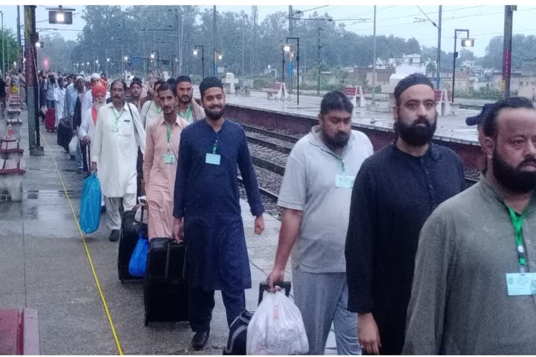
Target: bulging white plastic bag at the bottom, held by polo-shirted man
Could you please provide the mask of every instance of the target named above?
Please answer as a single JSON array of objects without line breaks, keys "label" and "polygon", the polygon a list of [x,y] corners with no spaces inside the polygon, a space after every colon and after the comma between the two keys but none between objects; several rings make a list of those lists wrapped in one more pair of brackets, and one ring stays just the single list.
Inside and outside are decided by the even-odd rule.
[{"label": "bulging white plastic bag at the bottom, held by polo-shirted man", "polygon": [[306,354],[309,343],[298,307],[281,291],[266,293],[248,325],[247,354]]}]

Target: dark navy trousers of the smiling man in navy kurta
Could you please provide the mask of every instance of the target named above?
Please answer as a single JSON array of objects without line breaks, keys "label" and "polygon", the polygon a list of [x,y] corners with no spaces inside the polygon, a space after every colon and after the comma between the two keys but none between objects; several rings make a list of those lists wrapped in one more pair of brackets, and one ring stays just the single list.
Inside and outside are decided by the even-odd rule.
[{"label": "dark navy trousers of the smiling man in navy kurta", "polygon": [[[221,291],[227,326],[246,308],[244,290]],[[212,310],[214,309],[214,290],[190,289],[189,317],[193,332],[210,330]]]}]

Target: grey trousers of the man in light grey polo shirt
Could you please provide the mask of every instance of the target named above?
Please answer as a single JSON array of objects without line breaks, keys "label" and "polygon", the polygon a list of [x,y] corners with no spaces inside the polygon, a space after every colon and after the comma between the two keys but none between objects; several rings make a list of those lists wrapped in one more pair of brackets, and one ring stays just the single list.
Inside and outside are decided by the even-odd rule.
[{"label": "grey trousers of the man in light grey polo shirt", "polygon": [[306,273],[292,268],[294,302],[304,320],[309,354],[324,354],[327,335],[335,326],[337,354],[362,354],[357,340],[357,314],[347,310],[346,273]]}]

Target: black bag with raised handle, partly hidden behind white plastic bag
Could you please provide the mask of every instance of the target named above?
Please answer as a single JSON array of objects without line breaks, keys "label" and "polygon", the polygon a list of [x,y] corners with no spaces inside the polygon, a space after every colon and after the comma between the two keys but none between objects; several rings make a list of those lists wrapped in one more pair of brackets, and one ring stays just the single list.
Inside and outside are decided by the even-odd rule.
[{"label": "black bag with raised handle, partly hidden behind white plastic bag", "polygon": [[[276,285],[285,289],[285,295],[290,294],[290,282],[277,282]],[[268,289],[268,284],[261,282],[259,284],[259,301],[262,301],[262,294]],[[234,319],[229,326],[229,338],[227,340],[227,347],[223,349],[224,355],[245,355],[246,354],[246,342],[248,336],[248,324],[253,317],[253,312],[243,310]]]}]

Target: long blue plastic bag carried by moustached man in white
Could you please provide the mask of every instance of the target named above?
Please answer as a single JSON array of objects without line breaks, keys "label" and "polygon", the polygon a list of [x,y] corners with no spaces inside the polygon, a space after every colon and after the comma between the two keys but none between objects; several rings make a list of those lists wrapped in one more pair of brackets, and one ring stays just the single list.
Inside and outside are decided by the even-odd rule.
[{"label": "long blue plastic bag carried by moustached man in white", "polygon": [[97,174],[91,175],[84,180],[82,200],[80,201],[80,228],[84,233],[93,233],[101,223],[101,183]]}]

